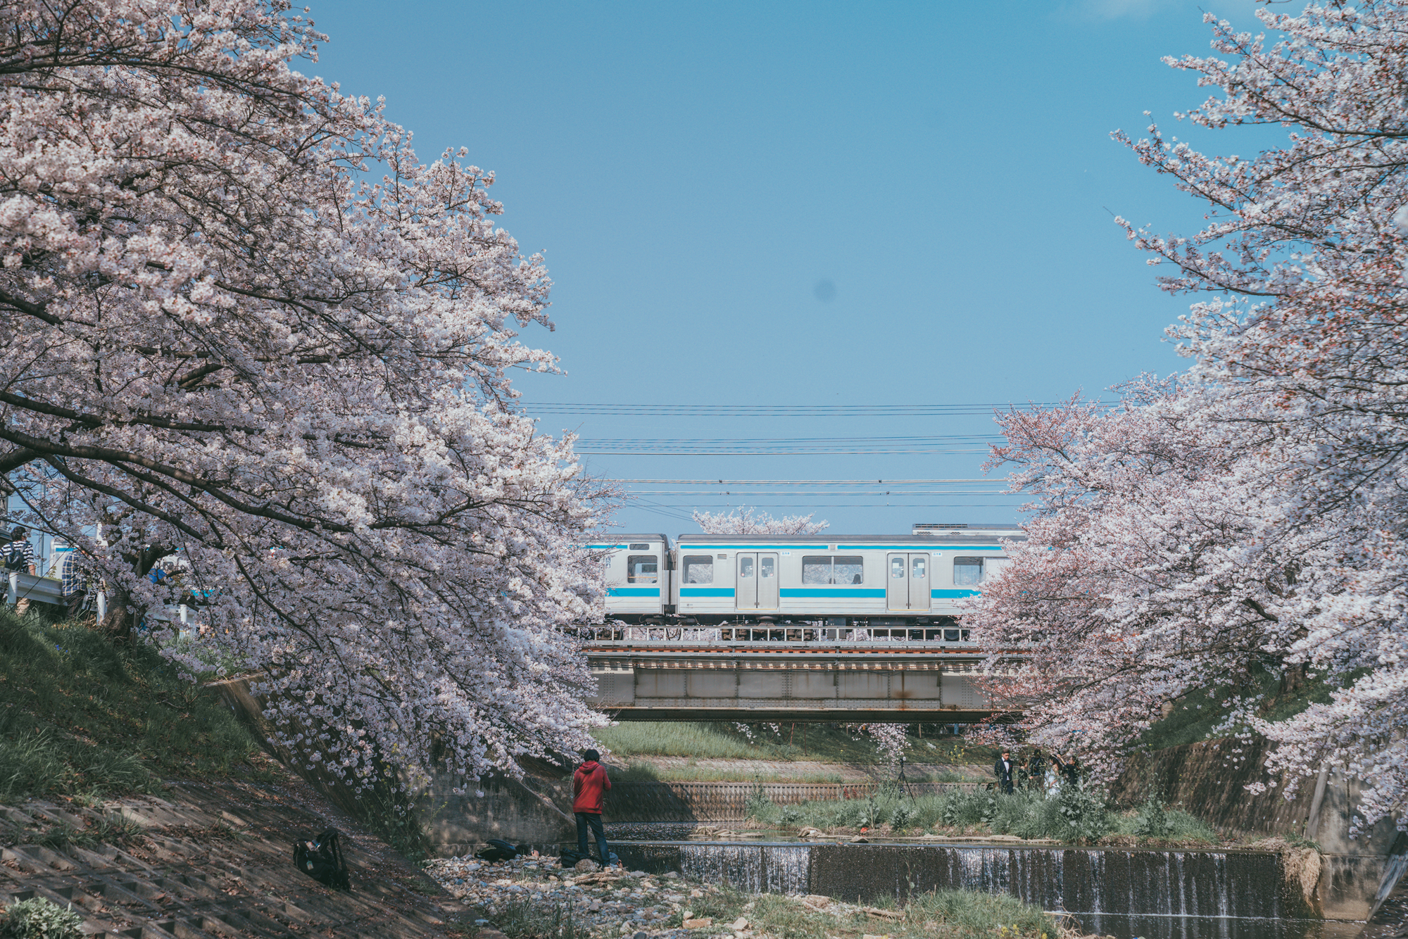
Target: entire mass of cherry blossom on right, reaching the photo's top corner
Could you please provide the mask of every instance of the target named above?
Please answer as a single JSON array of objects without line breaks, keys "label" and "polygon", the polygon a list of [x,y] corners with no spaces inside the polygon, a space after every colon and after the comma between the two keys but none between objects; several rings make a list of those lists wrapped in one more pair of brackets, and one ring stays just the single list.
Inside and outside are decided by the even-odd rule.
[{"label": "entire mass of cherry blossom on right, reaching the photo's top corner", "polygon": [[[1362,779],[1373,821],[1408,798],[1408,4],[1257,15],[1278,38],[1208,17],[1215,55],[1170,59],[1214,89],[1178,117],[1287,128],[1283,146],[1117,134],[1205,206],[1187,237],[1119,222],[1164,287],[1214,294],[1171,329],[1191,369],[1114,411],[1001,418],[994,462],[1036,517],[976,618],[1038,741],[1114,771],[1211,693],[1225,728],[1280,742],[1273,770]],[[1015,643],[1029,663],[1001,660]],[[1324,679],[1331,702],[1271,719],[1259,673]]]}]

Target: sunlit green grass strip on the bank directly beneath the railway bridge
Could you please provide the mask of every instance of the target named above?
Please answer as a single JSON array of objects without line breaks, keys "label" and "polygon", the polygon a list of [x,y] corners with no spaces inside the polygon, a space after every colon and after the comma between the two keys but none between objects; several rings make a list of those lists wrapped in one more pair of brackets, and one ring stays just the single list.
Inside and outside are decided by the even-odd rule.
[{"label": "sunlit green grass strip on the bank directly beneath the railway bridge", "polygon": [[[783,724],[780,732],[767,725],[750,725],[753,739],[728,722],[622,721],[593,731],[593,736],[615,757],[687,756],[712,760],[793,760],[815,763],[880,762],[874,741],[831,724]],[[986,748],[964,746],[962,738],[910,735],[905,752],[911,762],[991,763]]]}]

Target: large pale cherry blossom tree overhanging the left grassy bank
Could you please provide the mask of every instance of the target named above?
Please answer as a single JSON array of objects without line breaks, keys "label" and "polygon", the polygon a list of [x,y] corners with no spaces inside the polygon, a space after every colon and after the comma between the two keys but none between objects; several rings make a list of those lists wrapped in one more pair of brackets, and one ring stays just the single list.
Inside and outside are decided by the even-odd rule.
[{"label": "large pale cherry blossom tree overhanging the left grassy bank", "polygon": [[104,625],[177,598],[144,574],[179,550],[201,642],[337,773],[584,742],[560,628],[604,493],[514,404],[510,369],[555,367],[515,336],[551,282],[493,175],[296,70],[322,37],[283,0],[0,25],[0,469]]}]

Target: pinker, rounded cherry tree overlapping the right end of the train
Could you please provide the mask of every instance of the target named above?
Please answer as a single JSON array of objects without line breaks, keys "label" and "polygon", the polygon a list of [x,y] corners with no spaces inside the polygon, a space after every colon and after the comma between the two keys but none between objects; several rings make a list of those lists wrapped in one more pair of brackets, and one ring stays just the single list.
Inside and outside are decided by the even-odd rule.
[{"label": "pinker, rounded cherry tree overlapping the right end of the train", "polygon": [[998,418],[991,465],[1018,467],[1033,517],[964,618],[1004,718],[984,739],[1077,750],[1097,776],[1193,691],[1224,688],[1245,721],[1259,701],[1236,690],[1284,670],[1298,638],[1278,617],[1295,555],[1276,541],[1274,466],[1197,391],[1150,379],[1122,391],[1115,410],[1073,398]]}]

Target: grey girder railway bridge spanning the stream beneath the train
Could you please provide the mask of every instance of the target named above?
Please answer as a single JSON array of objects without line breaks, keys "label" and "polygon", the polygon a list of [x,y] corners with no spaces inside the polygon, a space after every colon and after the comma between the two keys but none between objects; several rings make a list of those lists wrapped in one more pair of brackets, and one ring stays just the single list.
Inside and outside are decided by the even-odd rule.
[{"label": "grey girder railway bridge spanning the stream beneath the train", "polygon": [[[717,631],[715,631],[717,632]],[[974,724],[983,653],[953,642],[594,639],[594,707],[618,721]]]}]

